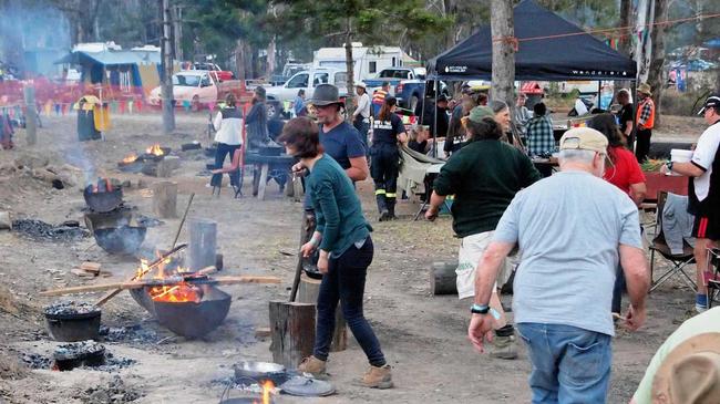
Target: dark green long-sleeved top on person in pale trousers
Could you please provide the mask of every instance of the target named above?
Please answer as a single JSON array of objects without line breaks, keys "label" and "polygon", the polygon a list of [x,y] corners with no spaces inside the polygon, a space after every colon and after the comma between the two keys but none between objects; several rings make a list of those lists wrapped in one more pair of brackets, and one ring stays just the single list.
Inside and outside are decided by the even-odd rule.
[{"label": "dark green long-sleeved top on person in pale trousers", "polygon": [[495,230],[515,194],[541,179],[523,152],[500,141],[467,143],[435,179],[438,195],[455,195],[453,230],[459,237]]}]

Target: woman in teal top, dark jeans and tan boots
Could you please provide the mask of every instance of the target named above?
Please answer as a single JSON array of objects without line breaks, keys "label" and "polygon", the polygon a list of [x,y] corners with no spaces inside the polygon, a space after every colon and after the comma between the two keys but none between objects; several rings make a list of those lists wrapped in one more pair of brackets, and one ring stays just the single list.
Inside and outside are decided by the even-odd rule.
[{"label": "woman in teal top, dark jeans and tan boots", "polygon": [[326,372],[335,311],[340,301],[348,327],[370,362],[362,383],[368,387],[389,389],[392,386],[390,366],[362,313],[366,276],[373,256],[372,228],[362,215],[352,182],[340,165],[323,153],[318,125],[311,120],[291,120],[278,141],[310,172],[306,189],[318,225],[310,241],[301,247],[301,253],[308,257],[319,248],[318,270],[323,274],[312,356],[306,358],[298,370],[316,376]]}]

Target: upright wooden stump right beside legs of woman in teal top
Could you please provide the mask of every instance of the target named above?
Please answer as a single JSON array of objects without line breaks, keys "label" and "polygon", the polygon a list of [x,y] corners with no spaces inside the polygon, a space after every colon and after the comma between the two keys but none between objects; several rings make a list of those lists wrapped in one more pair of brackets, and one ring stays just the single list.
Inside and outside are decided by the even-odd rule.
[{"label": "upright wooden stump right beside legs of woman in teal top", "polygon": [[315,344],[315,305],[271,301],[270,333],[272,362],[296,369],[312,354]]}]

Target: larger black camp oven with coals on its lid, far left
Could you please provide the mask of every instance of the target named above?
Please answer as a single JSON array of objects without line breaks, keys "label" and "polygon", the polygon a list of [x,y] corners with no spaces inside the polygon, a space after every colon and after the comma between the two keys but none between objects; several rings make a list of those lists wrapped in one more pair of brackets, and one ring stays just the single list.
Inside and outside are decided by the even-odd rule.
[{"label": "larger black camp oven with coals on its lid, far left", "polygon": [[88,303],[60,302],[44,309],[48,333],[55,341],[96,340],[100,333],[99,308]]}]

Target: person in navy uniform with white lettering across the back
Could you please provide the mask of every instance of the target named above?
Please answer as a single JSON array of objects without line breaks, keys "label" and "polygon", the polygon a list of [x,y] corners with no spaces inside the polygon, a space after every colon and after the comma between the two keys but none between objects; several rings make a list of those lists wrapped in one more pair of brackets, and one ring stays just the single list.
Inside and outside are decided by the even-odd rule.
[{"label": "person in navy uniform with white lettering across the back", "polygon": [[398,100],[385,97],[380,107],[378,118],[372,123],[372,147],[370,155],[372,164],[370,174],[376,183],[376,199],[380,221],[395,218],[395,198],[398,190],[398,174],[400,169],[400,149],[398,142],[408,142],[405,126],[394,111]]}]

